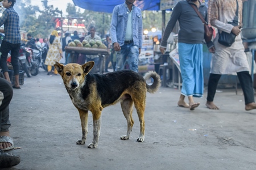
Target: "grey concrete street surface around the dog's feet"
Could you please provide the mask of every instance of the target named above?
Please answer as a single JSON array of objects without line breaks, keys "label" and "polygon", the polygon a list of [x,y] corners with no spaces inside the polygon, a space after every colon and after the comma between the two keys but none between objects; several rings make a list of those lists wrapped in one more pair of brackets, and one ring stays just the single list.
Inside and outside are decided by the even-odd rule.
[{"label": "grey concrete street surface around the dog's feet", "polygon": [[[177,107],[180,91],[161,87],[147,93],[145,141],[137,142],[138,116],[128,141],[120,104],[102,111],[98,148],[93,139],[92,114],[85,145],[79,113],[71,103],[60,75],[43,70],[25,77],[14,89],[10,104],[10,134],[21,162],[10,169],[256,169],[256,111],[245,111],[241,89],[218,89],[212,111],[205,97],[195,111]],[[207,92],[207,90],[205,90]]]}]

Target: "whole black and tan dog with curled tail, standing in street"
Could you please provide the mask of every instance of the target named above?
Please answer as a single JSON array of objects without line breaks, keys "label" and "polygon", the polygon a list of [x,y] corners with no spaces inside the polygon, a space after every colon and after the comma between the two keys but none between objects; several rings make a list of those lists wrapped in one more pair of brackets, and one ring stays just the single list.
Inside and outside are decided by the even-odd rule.
[{"label": "whole black and tan dog with curled tail, standing in street", "polygon": [[[130,137],[133,128],[133,104],[137,109],[141,131],[138,142],[144,141],[144,110],[146,105],[146,92],[154,93],[160,86],[160,76],[154,71],[146,73],[144,78],[131,70],[114,71],[107,74],[89,73],[94,66],[93,61],[84,65],[69,63],[62,65],[55,63],[55,68],[61,75],[68,94],[79,111],[82,138],[77,144],[84,144],[88,134],[88,111],[93,117],[93,141],[89,148],[97,148],[101,128],[101,111],[103,108],[121,102],[123,114],[127,120],[127,133],[121,136],[122,140]],[[146,80],[154,79],[149,86]]]}]

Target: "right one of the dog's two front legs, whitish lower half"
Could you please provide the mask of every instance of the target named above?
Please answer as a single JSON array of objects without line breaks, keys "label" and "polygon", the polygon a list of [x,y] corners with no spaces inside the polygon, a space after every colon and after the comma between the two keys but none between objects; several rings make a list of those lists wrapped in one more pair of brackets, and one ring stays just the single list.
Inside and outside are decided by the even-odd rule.
[{"label": "right one of the dog's two front legs, whitish lower half", "polygon": [[[93,112],[92,112],[93,113]],[[95,115],[93,113],[93,142],[88,145],[89,148],[98,147],[98,139],[101,131],[101,112]]]}]

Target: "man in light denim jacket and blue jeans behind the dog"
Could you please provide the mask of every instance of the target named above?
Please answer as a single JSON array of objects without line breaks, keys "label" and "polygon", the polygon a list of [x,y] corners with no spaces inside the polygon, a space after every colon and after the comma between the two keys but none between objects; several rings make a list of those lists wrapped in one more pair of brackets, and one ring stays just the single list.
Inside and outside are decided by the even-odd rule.
[{"label": "man in light denim jacket and blue jeans behind the dog", "polygon": [[110,35],[116,51],[116,70],[123,70],[128,57],[129,69],[138,72],[138,58],[142,48],[142,14],[134,6],[135,0],[114,7]]}]

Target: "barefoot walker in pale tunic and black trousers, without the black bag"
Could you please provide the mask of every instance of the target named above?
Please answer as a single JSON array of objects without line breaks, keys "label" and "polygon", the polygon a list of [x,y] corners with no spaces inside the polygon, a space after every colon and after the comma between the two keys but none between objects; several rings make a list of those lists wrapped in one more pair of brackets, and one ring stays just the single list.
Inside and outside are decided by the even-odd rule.
[{"label": "barefoot walker in pale tunic and black trousers, without the black bag", "polygon": [[219,109],[213,99],[218,80],[222,74],[237,74],[245,98],[245,110],[256,109],[254,100],[253,81],[249,74],[249,65],[241,39],[241,25],[233,26],[228,22],[236,16],[238,5],[238,22],[242,23],[242,2],[245,0],[212,0],[209,4],[210,24],[221,32],[233,33],[236,39],[231,46],[224,46],[218,42],[219,33],[213,40],[215,52],[212,54],[210,76],[208,82],[207,107]]}]

